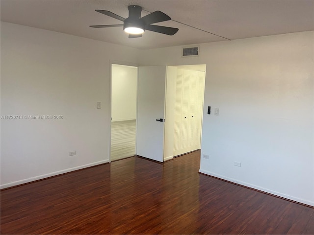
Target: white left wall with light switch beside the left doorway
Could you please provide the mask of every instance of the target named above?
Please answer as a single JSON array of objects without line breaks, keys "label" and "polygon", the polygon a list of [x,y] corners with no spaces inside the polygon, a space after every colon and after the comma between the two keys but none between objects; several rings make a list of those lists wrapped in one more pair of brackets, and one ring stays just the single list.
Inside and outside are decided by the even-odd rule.
[{"label": "white left wall with light switch beside the left doorway", "polygon": [[1,22],[1,115],[63,116],[1,119],[1,188],[108,162],[110,61],[137,53]]}]

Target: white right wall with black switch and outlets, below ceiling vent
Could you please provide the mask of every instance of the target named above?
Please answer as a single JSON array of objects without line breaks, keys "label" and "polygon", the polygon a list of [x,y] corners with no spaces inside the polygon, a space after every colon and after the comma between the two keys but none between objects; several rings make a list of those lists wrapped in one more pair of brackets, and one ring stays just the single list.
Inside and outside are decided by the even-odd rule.
[{"label": "white right wall with black switch and outlets, below ceiling vent", "polygon": [[313,42],[301,32],[209,43],[189,58],[150,49],[140,63],[207,64],[200,172],[314,205]]}]

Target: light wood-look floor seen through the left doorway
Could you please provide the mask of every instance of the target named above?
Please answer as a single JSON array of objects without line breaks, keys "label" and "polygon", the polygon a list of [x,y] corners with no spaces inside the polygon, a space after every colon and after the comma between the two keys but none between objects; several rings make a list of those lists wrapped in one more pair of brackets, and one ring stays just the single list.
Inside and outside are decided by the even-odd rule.
[{"label": "light wood-look floor seen through the left doorway", "polygon": [[111,161],[135,155],[135,130],[136,120],[111,122]]}]

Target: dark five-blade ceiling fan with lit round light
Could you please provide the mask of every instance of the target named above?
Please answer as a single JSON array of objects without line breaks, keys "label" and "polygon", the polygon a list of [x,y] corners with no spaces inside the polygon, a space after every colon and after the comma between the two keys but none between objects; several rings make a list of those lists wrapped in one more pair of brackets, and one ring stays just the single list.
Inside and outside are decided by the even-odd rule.
[{"label": "dark five-blade ceiling fan with lit round light", "polygon": [[154,25],[154,23],[159,23],[163,21],[169,21],[171,18],[161,11],[155,11],[141,18],[142,7],[137,5],[128,6],[129,17],[123,18],[110,11],[105,10],[95,10],[106,16],[110,16],[114,19],[122,21],[123,24],[109,24],[109,25],[90,25],[93,28],[107,28],[107,27],[119,27],[123,26],[123,30],[129,33],[129,38],[139,38],[142,37],[142,33],[145,30],[163,33],[167,35],[174,35],[178,32],[179,28],[165,27],[160,25]]}]

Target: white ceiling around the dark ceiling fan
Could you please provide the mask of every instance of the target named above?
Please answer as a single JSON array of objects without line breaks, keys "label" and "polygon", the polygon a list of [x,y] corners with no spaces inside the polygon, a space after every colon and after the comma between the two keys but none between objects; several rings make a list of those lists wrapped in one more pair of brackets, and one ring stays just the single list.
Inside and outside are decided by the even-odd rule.
[{"label": "white ceiling around the dark ceiling fan", "polygon": [[[129,39],[122,27],[89,27],[121,24],[95,9],[108,10],[127,18],[128,5],[142,6],[142,16],[156,10],[166,13],[173,21],[158,25],[177,27],[178,33],[168,36],[146,31],[141,38]],[[4,22],[137,48],[314,30],[314,0],[0,0],[0,10],[1,21]]]}]

